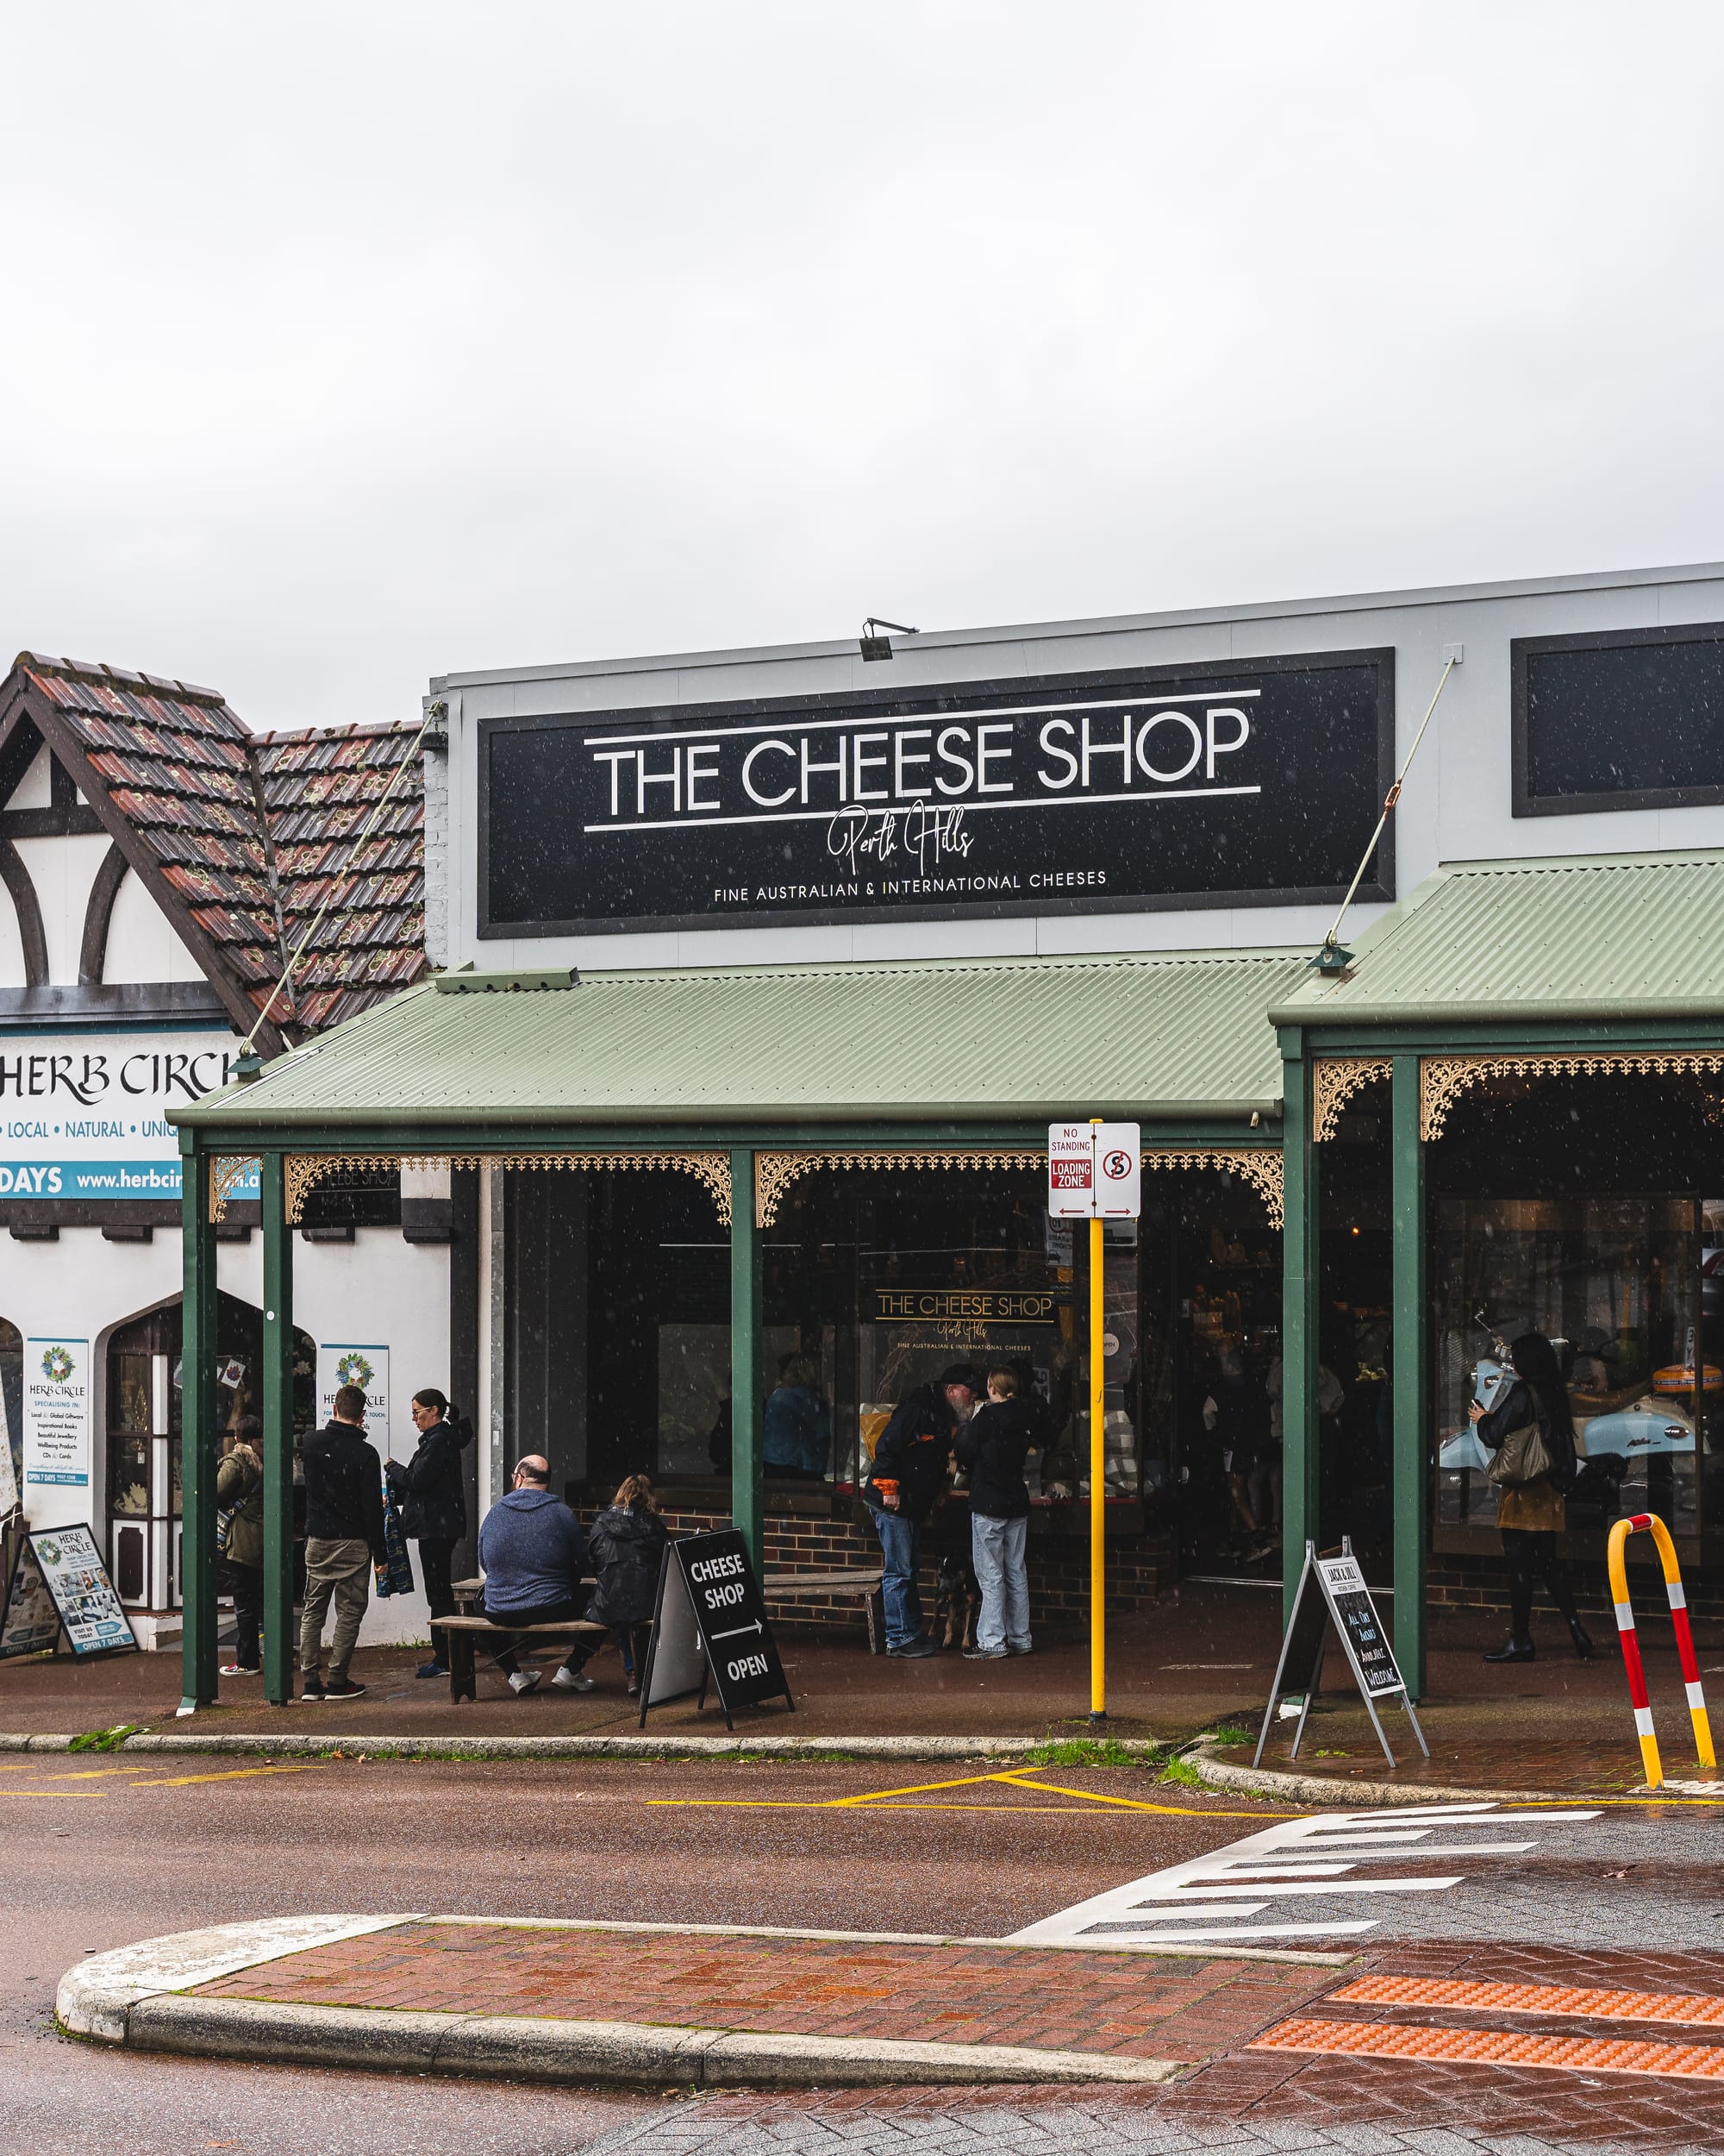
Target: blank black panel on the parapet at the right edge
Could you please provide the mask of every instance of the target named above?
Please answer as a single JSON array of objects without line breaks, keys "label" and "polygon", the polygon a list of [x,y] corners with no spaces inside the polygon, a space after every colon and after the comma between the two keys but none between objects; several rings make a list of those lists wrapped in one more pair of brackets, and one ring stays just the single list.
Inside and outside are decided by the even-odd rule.
[{"label": "blank black panel on the parapet at the right edge", "polygon": [[1511,645],[1515,815],[1724,802],[1724,623]]}]

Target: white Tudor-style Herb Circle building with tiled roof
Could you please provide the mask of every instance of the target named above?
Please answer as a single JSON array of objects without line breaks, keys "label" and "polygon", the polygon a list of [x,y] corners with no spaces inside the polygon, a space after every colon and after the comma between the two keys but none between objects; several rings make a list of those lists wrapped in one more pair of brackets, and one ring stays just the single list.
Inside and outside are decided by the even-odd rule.
[{"label": "white Tudor-style Herb Circle building with tiled roof", "polygon": [[[418,731],[250,733],[211,690],[37,653],[0,681],[6,1438],[30,1524],[91,1524],[144,1645],[179,1645],[181,1608],[181,1173],[166,1115],[231,1074],[325,901],[259,1026],[265,1054],[425,972]],[[259,1406],[256,1175],[224,1179],[218,1212],[200,1345],[211,1442]],[[293,1427],[317,1421],[319,1363],[358,1350],[373,1388],[399,1395],[377,1434],[412,1447],[409,1393],[448,1380],[448,1179],[334,1179],[300,1242]],[[420,1598],[373,1604],[371,1636],[425,1636]]]}]

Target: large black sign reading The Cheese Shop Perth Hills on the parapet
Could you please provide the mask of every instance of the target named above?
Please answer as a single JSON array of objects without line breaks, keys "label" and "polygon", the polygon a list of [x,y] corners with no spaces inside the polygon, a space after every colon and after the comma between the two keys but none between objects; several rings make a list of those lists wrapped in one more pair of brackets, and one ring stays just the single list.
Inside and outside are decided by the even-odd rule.
[{"label": "large black sign reading The Cheese Shop Perth Hills on the parapet", "polygon": [[[1332,903],[1394,653],[478,727],[481,936]],[[1394,897],[1386,832],[1362,899]]]}]

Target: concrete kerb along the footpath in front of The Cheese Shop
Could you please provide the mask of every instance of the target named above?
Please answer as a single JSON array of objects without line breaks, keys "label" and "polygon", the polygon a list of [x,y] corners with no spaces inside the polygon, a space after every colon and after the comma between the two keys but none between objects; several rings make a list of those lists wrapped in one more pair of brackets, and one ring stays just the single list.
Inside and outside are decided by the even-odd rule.
[{"label": "concrete kerb along the footpath in front of The Cheese Shop", "polygon": [[[284,1757],[321,1757],[343,1751],[349,1757],[364,1753],[369,1759],[1024,1759],[1041,1751],[1049,1738],[776,1738],[776,1736],[724,1736],[724,1738],[653,1738],[653,1736],[610,1736],[610,1738],[369,1738],[347,1729],[295,1729],[239,1736],[237,1731],[209,1731],[157,1736],[155,1731],[123,1738],[114,1751],[127,1753],[278,1753]],[[1052,1740],[1058,1742],[1058,1740]],[[1155,1759],[1164,1746],[1138,1742],[1136,1738],[1114,1740],[1123,1751],[1142,1759]],[[39,1736],[30,1731],[0,1731],[0,1753],[9,1751],[71,1751],[69,1736]]]}]

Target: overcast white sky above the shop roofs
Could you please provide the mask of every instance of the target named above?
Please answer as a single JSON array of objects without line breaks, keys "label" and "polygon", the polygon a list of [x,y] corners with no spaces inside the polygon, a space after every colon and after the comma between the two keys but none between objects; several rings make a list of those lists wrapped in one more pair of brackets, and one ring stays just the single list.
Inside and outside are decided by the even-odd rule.
[{"label": "overcast white sky above the shop roofs", "polygon": [[0,658],[280,727],[1724,556],[1715,4],[0,24]]}]

